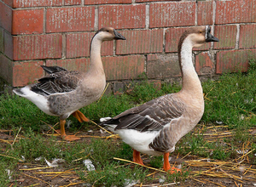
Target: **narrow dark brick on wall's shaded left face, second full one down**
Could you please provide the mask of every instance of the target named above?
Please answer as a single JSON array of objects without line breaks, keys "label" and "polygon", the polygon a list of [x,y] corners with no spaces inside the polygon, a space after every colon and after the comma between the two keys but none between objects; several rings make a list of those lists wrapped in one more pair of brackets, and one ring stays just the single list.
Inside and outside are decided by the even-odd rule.
[{"label": "narrow dark brick on wall's shaded left face, second full one down", "polygon": [[9,59],[14,59],[13,36],[8,31],[3,31],[3,53]]}]

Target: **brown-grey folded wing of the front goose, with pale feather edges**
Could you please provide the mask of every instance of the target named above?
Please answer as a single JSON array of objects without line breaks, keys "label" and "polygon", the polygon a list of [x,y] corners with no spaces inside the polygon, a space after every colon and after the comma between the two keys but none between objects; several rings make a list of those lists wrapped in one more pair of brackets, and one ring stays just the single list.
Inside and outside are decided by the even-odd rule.
[{"label": "brown-grey folded wing of the front goose, with pale feather edges", "polygon": [[167,123],[183,115],[184,104],[173,94],[161,96],[147,103],[131,108],[104,124],[117,125],[118,129],[136,129],[140,132],[157,131]]}]

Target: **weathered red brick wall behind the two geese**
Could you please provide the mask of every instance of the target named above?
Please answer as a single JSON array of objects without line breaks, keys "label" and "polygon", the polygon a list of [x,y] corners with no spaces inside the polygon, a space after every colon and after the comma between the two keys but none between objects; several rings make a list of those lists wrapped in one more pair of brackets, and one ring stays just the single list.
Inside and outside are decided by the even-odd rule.
[{"label": "weathered red brick wall behind the two geese", "polygon": [[180,77],[177,42],[190,26],[210,25],[220,39],[194,48],[201,77],[247,71],[256,59],[255,9],[255,0],[0,0],[0,77],[20,87],[44,76],[40,65],[87,71],[90,39],[103,26],[126,37],[102,46],[113,85],[143,73]]}]

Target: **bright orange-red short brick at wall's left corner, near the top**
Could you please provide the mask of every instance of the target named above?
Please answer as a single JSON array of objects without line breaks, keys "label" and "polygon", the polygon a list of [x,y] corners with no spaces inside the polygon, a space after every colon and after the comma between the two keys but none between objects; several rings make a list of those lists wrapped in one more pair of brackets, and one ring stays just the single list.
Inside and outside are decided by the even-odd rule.
[{"label": "bright orange-red short brick at wall's left corner, near the top", "polygon": [[14,10],[12,34],[41,34],[44,27],[44,9]]}]

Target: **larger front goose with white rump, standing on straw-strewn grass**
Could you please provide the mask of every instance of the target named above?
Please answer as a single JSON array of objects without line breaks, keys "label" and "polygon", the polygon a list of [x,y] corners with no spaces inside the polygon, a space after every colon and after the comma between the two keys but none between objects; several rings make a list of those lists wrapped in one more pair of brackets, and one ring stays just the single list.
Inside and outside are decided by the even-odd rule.
[{"label": "larger front goose with white rump, standing on straw-strewn grass", "polygon": [[164,156],[164,170],[181,172],[170,166],[169,154],[175,144],[201,120],[204,98],[201,82],[192,61],[192,48],[206,42],[218,42],[210,33],[210,26],[189,28],[178,43],[178,61],[182,72],[182,89],[166,94],[122,112],[113,118],[101,118],[100,125],[133,148],[133,161],[143,165],[140,153]]}]

